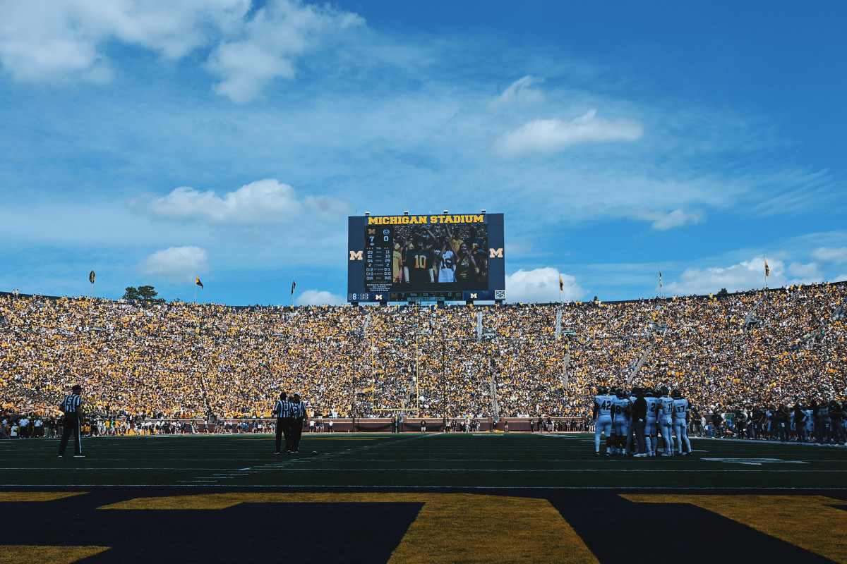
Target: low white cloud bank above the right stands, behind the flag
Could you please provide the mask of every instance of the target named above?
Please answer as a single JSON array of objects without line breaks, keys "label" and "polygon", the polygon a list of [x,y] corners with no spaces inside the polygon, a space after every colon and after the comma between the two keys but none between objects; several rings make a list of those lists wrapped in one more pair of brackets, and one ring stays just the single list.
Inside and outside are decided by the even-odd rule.
[{"label": "low white cloud bank above the right stands, behind the flag", "polygon": [[[794,262],[786,265],[783,260],[769,258],[767,265],[771,269],[771,276],[767,277],[769,287],[822,282],[822,275],[816,263],[804,265]],[[764,286],[765,260],[757,256],[733,266],[687,268],[678,281],[670,282],[664,287],[664,293],[666,295],[703,295],[717,293],[723,287],[729,292],[739,292]]]}]

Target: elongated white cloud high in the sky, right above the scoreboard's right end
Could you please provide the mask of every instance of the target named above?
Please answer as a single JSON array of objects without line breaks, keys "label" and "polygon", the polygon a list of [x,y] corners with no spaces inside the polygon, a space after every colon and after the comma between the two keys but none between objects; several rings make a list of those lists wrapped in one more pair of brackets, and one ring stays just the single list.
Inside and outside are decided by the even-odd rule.
[{"label": "elongated white cloud high in the sky, right above the scoreboard's right end", "polygon": [[644,130],[628,119],[610,121],[598,118],[591,110],[566,122],[560,119],[536,119],[502,135],[495,141],[495,152],[504,158],[547,155],[584,143],[638,140]]}]

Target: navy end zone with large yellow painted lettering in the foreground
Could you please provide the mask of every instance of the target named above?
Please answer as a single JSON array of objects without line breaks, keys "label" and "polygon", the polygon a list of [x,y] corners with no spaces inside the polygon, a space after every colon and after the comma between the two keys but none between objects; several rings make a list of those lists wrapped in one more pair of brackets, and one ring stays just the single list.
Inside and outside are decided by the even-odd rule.
[{"label": "navy end zone with large yellow painted lettering in the foreground", "polygon": [[[185,495],[191,491],[191,495]],[[0,562],[847,562],[847,491],[86,488],[0,492]],[[815,533],[817,531],[817,533]],[[45,546],[50,539],[50,546]],[[715,542],[720,539],[720,542]]]}]

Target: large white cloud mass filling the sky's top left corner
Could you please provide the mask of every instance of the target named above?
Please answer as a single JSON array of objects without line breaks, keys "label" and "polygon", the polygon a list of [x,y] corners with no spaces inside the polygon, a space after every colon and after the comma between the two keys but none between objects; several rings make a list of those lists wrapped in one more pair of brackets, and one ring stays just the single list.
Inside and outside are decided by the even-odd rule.
[{"label": "large white cloud mass filling the sky's top left corner", "polygon": [[111,74],[109,41],[185,57],[211,48],[207,68],[222,79],[216,90],[247,101],[271,79],[291,78],[296,57],[363,19],[300,0],[269,0],[250,14],[250,0],[0,0],[0,63],[15,79],[58,83],[103,81]]}]

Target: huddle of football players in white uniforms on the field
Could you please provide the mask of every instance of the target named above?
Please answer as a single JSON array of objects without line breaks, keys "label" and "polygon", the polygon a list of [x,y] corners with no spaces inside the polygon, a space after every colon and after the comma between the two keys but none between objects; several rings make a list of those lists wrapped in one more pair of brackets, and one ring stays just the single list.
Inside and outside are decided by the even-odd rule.
[{"label": "huddle of football players in white uniforms on the field", "polygon": [[[688,419],[691,406],[682,392],[667,387],[658,392],[650,388],[634,388],[628,395],[623,388],[597,388],[594,399],[595,456],[601,456],[600,435],[606,435],[606,456],[634,454],[635,457],[655,457],[659,437],[662,437],[663,457],[672,457],[673,435],[677,452],[691,452],[688,438]],[[636,452],[637,451],[637,452]]]}]

